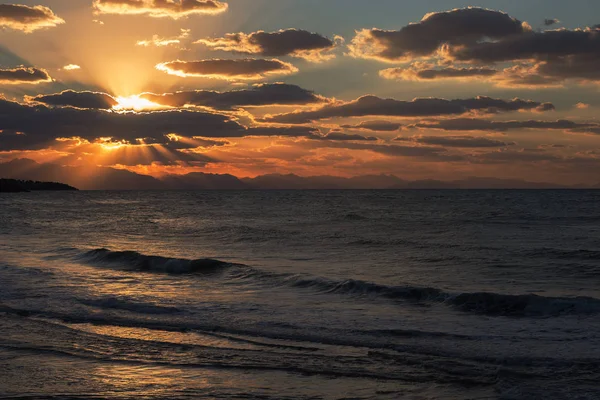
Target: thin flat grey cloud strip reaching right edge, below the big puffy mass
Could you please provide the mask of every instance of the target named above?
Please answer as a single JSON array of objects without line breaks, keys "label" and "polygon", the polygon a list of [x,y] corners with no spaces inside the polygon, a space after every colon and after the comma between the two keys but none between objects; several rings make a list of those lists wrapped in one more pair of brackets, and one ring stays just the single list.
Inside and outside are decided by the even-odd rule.
[{"label": "thin flat grey cloud strip reaching right edge, below the big puffy mass", "polygon": [[474,118],[446,119],[436,122],[418,123],[413,125],[422,129],[441,129],[445,131],[497,131],[504,132],[514,129],[563,129],[572,130],[597,126],[597,124],[578,123],[569,120],[556,121],[489,121]]}]

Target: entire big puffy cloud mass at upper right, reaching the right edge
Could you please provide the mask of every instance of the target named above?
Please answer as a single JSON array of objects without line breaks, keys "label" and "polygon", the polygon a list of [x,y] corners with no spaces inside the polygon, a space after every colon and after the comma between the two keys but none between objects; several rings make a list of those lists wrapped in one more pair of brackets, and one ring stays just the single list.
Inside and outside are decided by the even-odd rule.
[{"label": "entire big puffy cloud mass at upper right, reaching the right edge", "polygon": [[[546,26],[556,23],[545,21]],[[600,82],[598,26],[534,31],[526,22],[483,8],[431,13],[398,31],[363,29],[349,48],[354,57],[384,62],[443,61],[442,68],[382,71],[388,79],[489,78],[499,86],[521,88]],[[505,63],[512,65],[499,71],[483,66]]]}]

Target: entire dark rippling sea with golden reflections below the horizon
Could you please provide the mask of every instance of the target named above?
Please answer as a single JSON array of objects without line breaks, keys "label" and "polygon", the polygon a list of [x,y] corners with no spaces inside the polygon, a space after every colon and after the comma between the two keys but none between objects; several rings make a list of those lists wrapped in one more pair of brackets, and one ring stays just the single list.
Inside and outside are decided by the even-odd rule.
[{"label": "entire dark rippling sea with golden reflections below the horizon", "polygon": [[600,191],[0,195],[0,398],[598,399]]}]

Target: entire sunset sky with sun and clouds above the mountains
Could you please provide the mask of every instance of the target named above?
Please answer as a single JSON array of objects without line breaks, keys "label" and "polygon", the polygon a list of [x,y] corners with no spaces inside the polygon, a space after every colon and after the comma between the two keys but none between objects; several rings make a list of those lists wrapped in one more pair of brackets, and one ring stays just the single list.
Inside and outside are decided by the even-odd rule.
[{"label": "entire sunset sky with sun and clouds above the mountains", "polygon": [[600,181],[597,0],[0,3],[0,161]]}]

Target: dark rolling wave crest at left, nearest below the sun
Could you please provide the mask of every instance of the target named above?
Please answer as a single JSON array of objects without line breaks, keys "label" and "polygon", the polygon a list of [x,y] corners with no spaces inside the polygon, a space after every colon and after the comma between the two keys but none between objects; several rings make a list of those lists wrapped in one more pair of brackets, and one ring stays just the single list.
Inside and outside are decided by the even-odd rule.
[{"label": "dark rolling wave crest at left, nearest below the sun", "polygon": [[111,251],[108,249],[90,250],[79,255],[77,258],[80,261],[93,265],[148,272],[165,272],[169,274],[211,274],[222,271],[232,265],[210,258],[188,260],[184,258],[147,256],[137,251]]}]

